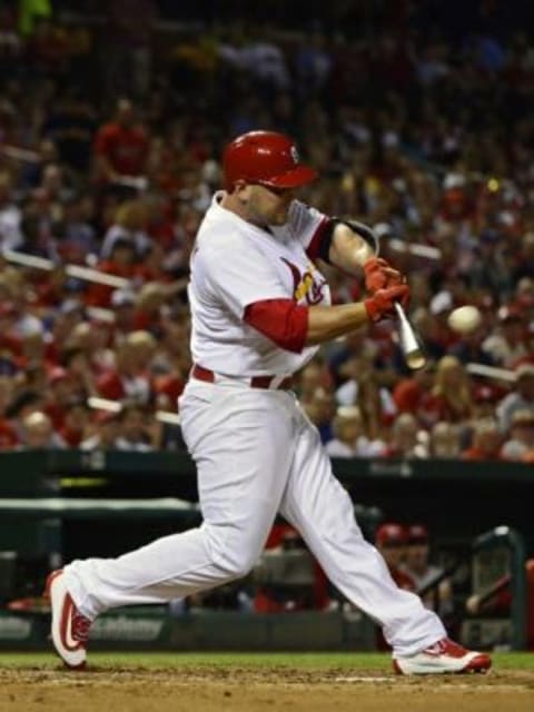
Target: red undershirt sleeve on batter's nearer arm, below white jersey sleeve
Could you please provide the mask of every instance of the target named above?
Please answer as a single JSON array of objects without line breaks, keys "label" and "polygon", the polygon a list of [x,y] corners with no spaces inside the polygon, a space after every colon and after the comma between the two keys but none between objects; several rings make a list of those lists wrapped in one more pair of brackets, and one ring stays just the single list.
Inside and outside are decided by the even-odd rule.
[{"label": "red undershirt sleeve on batter's nearer arm, below white jersey sleeve", "polygon": [[264,299],[249,304],[244,320],[277,346],[300,354],[308,334],[308,307],[293,299]]}]

